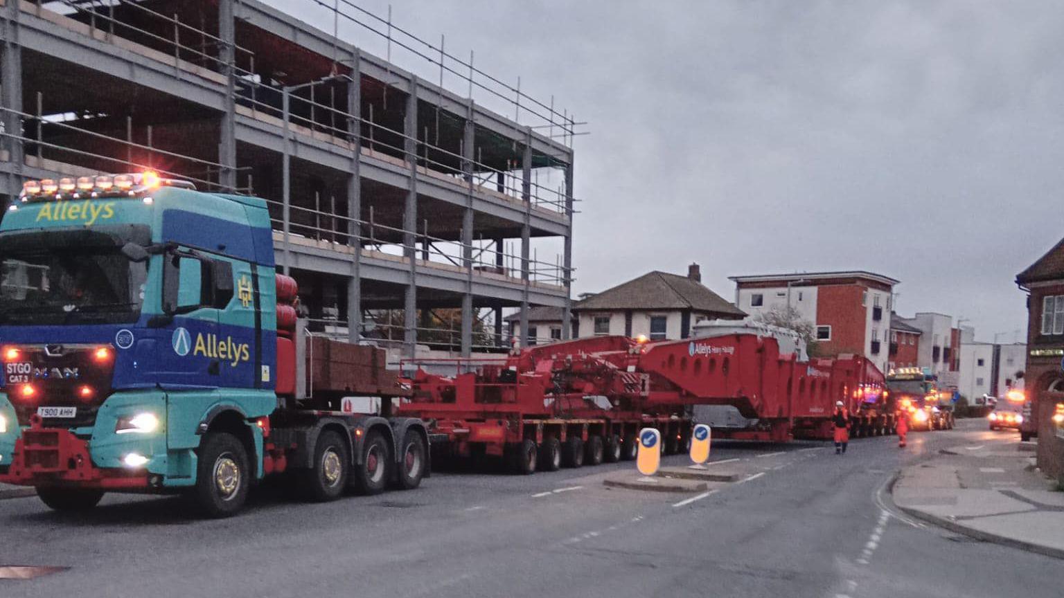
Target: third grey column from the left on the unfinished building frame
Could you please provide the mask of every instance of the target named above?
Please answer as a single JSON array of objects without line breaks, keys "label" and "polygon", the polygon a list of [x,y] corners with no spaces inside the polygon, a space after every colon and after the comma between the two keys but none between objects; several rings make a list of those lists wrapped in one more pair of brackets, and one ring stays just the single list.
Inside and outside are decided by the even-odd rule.
[{"label": "third grey column from the left on the unfinished building frame", "polygon": [[347,281],[347,339],[358,343],[362,334],[362,54],[351,52],[351,81],[347,84],[347,130],[351,135],[351,176],[347,179],[348,247],[351,278]]}]

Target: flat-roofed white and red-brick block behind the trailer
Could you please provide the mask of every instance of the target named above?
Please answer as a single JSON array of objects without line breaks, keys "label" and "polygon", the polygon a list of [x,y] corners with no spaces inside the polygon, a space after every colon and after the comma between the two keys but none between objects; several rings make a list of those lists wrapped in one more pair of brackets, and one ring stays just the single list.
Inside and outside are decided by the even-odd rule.
[{"label": "flat-roofed white and red-brick block behind the trailer", "polygon": [[731,277],[735,305],[751,317],[791,308],[815,326],[820,354],[890,364],[891,296],[898,281],[863,270]]}]

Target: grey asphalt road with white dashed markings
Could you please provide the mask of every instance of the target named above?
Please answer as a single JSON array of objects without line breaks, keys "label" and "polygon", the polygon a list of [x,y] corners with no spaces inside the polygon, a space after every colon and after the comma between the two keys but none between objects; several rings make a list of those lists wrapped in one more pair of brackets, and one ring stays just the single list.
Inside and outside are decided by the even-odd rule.
[{"label": "grey asphalt road with white dashed markings", "polygon": [[1059,598],[1064,561],[892,512],[884,488],[902,462],[988,434],[962,426],[913,433],[904,451],[857,439],[842,456],[822,443],[717,443],[713,467],[739,481],[686,503],[701,495],[603,486],[634,478],[630,463],[436,474],[328,504],[267,488],[221,521],[174,498],[109,496],[78,517],[0,500],[0,566],[67,567],[0,580],[0,596]]}]

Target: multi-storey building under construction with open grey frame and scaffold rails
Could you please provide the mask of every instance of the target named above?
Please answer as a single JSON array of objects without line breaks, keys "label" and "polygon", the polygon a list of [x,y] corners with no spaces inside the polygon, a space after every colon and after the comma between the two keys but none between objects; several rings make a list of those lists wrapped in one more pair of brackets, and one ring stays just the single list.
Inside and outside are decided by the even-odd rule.
[{"label": "multi-storey building under construction with open grey frame and scaffold rails", "polygon": [[[506,308],[564,308],[567,321],[571,115],[390,16],[283,5],[0,0],[0,195],[144,169],[256,195],[314,326],[408,353],[503,346]],[[428,61],[438,82],[342,31]],[[547,258],[536,244],[551,238]]]}]

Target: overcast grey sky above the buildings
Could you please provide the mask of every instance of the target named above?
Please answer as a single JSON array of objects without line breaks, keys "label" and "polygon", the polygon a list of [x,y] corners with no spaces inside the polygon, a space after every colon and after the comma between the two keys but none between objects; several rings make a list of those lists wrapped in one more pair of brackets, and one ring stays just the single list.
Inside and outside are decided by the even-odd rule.
[{"label": "overcast grey sky above the buildings", "polygon": [[1014,277],[1064,236],[1059,2],[390,3],[591,122],[575,293],[693,261],[729,299],[730,275],[867,269],[902,281],[902,315],[1026,327]]}]

